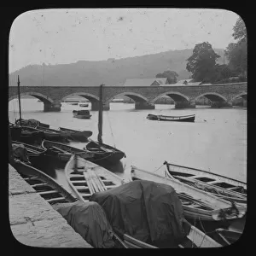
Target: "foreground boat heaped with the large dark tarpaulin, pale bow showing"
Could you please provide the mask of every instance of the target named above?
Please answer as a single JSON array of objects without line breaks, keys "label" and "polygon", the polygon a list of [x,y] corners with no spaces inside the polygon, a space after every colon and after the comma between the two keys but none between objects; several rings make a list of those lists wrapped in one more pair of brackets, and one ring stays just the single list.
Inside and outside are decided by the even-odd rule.
[{"label": "foreground boat heaped with the large dark tarpaulin, pale bow showing", "polygon": [[91,196],[102,206],[113,230],[131,248],[221,247],[183,218],[173,188],[134,181]]}]

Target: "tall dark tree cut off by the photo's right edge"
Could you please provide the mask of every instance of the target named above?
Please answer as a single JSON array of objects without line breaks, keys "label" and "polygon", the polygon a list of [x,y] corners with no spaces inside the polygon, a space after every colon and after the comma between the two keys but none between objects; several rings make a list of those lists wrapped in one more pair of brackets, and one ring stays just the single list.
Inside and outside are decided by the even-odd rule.
[{"label": "tall dark tree cut off by the photo's right edge", "polygon": [[225,55],[229,60],[229,67],[236,75],[247,76],[247,29],[241,17],[236,20],[232,36],[238,40],[230,43],[225,49]]}]

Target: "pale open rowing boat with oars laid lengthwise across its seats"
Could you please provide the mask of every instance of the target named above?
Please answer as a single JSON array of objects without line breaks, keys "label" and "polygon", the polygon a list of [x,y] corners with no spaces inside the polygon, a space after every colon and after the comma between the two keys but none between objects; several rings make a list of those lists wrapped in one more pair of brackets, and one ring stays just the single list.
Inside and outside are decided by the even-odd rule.
[{"label": "pale open rowing boat with oars laid lengthwise across its seats", "polygon": [[[76,166],[77,165],[77,166]],[[123,183],[125,179],[109,172],[102,166],[98,166],[83,158],[72,156],[65,166],[67,181],[81,201],[89,201],[95,192],[113,189]]]}]

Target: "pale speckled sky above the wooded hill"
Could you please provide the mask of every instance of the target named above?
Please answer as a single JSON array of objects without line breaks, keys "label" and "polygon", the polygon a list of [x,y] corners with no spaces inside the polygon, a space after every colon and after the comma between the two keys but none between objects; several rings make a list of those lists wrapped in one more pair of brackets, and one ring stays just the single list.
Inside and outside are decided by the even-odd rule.
[{"label": "pale speckled sky above the wooded hill", "polygon": [[194,49],[235,42],[239,15],[224,9],[38,9],[14,20],[9,32],[9,72],[33,64],[55,65]]}]

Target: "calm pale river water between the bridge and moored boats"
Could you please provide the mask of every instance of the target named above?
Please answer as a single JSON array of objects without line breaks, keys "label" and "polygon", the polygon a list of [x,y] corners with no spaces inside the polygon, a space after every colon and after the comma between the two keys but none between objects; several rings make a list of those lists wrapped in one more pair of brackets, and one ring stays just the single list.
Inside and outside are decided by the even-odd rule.
[{"label": "calm pale river water between the bridge and moored boats", "polygon": [[[61,112],[44,113],[43,102],[37,99],[21,99],[21,108],[23,119],[38,119],[52,128],[64,126],[75,130],[90,130],[93,131],[91,138],[97,140],[96,111],[90,111],[91,119],[75,119],[73,109],[87,108],[62,103]],[[128,175],[131,165],[163,174],[165,166],[162,164],[168,160],[177,165],[247,181],[246,109],[175,109],[172,105],[156,105],[154,110],[135,110],[134,104],[124,103],[111,103],[110,108],[103,112],[102,140],[126,154],[127,158],[119,166],[112,167],[112,171],[118,175]],[[18,109],[17,99],[9,102],[11,122],[19,118]],[[148,113],[195,113],[195,123],[148,120]],[[71,145],[84,147],[84,143]],[[56,167],[51,176],[66,186],[62,167]]]}]

